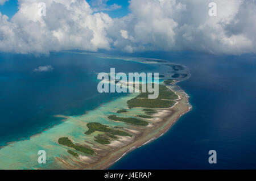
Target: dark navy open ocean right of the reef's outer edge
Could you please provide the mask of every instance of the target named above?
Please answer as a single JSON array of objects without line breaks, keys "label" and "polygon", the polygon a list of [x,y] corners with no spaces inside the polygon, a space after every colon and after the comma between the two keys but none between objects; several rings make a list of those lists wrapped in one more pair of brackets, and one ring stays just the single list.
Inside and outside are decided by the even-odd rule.
[{"label": "dark navy open ocean right of the reef's outer edge", "polygon": [[[148,53],[189,68],[178,85],[191,97],[186,113],[162,137],[110,169],[256,169],[256,56]],[[210,165],[208,151],[217,151]]]}]

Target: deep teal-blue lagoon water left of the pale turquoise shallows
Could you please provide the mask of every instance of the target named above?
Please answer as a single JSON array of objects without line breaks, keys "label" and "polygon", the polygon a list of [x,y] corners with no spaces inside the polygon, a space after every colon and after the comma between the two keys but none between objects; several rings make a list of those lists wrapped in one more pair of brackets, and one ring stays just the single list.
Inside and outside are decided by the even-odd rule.
[{"label": "deep teal-blue lagoon water left of the pale turquoise shallows", "polygon": [[[52,71],[35,72],[39,66]],[[0,146],[26,140],[62,123],[54,115],[76,116],[126,94],[97,91],[97,74],[140,72],[154,66],[90,54],[49,56],[0,54]]]}]

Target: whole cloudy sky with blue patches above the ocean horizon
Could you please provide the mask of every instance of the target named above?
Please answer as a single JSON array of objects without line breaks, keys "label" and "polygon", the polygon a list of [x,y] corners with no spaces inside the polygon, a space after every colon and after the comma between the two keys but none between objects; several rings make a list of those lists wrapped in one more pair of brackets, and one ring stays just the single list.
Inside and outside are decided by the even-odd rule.
[{"label": "whole cloudy sky with blue patches above the ocean horizon", "polygon": [[256,53],[256,0],[212,1],[0,0],[0,52]]}]

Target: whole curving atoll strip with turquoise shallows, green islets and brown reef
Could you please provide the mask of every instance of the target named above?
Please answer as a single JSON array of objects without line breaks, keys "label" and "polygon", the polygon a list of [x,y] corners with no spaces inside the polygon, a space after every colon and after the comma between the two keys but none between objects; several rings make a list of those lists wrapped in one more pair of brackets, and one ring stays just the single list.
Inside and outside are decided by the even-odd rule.
[{"label": "whole curving atoll strip with turquoise shallows, green islets and brown reef", "polygon": [[[180,116],[191,110],[189,96],[176,85],[189,77],[187,68],[143,58],[126,61],[152,64],[156,72],[161,70],[159,74],[164,76],[160,76],[156,99],[148,99],[152,94],[149,92],[134,92],[122,94],[80,115],[54,115],[61,120],[60,124],[1,148],[1,153],[6,155],[27,150],[18,158],[19,162],[9,160],[5,168],[108,169],[130,151],[162,136]],[[178,78],[172,78],[175,74],[179,74]],[[145,82],[134,82],[129,88],[136,86],[141,90],[138,84],[142,83]],[[156,85],[153,83],[153,86]],[[38,150],[47,152],[47,165],[36,162]]]}]

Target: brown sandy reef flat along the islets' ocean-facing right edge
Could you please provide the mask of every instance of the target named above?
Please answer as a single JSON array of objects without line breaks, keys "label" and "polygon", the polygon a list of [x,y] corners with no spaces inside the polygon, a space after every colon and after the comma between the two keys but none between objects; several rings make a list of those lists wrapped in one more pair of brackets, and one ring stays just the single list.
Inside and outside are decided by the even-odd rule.
[{"label": "brown sandy reef flat along the islets' ocean-facing right edge", "polygon": [[[154,118],[148,119],[153,123],[150,123],[147,127],[136,128],[128,125],[128,128],[123,128],[123,130],[134,133],[133,137],[118,136],[118,140],[111,141],[109,145],[97,146],[97,149],[104,150],[97,154],[97,161],[93,160],[94,162],[88,165],[86,164],[84,167],[76,167],[75,169],[108,169],[108,167],[130,151],[146,145],[166,133],[176,123],[179,117],[192,108],[188,102],[189,96],[185,92],[177,91],[175,93],[179,96],[179,100],[176,100],[176,103],[171,108],[155,108],[158,113],[152,115]],[[106,147],[109,149],[105,149]],[[92,161],[92,159],[93,157],[80,157],[81,161],[87,163]]]}]

